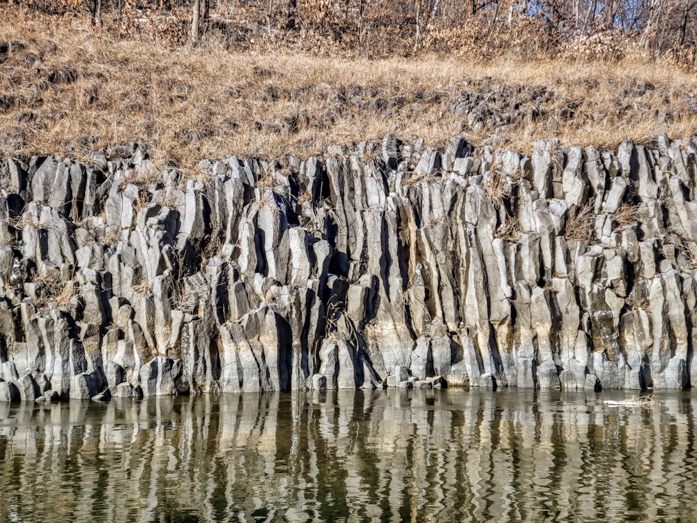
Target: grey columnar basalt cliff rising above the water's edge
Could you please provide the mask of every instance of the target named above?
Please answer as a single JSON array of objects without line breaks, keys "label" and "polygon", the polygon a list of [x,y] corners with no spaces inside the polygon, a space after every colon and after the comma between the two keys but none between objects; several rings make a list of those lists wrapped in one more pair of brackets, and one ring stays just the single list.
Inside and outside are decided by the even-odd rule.
[{"label": "grey columnar basalt cliff rising above the water's edge", "polygon": [[697,142],[0,167],[0,397],[686,388]]}]

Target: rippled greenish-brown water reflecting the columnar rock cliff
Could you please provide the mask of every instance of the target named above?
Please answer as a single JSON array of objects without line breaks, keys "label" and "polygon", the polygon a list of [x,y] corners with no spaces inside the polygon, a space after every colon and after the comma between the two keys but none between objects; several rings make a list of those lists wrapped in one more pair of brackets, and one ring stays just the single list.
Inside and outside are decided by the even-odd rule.
[{"label": "rippled greenish-brown water reflecting the columnar rock cliff", "polygon": [[697,393],[0,404],[0,522],[697,521]]}]

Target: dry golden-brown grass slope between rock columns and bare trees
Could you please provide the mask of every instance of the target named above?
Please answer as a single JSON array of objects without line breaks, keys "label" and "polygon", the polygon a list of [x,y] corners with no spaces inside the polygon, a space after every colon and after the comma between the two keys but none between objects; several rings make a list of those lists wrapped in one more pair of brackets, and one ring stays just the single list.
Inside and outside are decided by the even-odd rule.
[{"label": "dry golden-brown grass slope between rock columns and bare trees", "polygon": [[[465,135],[474,144],[528,152],[538,139],[614,147],[660,132],[697,130],[697,77],[631,56],[616,63],[514,57],[474,63],[457,56],[343,60],[307,54],[229,52],[210,39],[196,50],[118,40],[85,20],[45,24],[0,8],[0,40],[22,48],[0,63],[0,156],[118,156],[137,139],[155,167],[193,169],[226,154],[278,158],[393,132],[427,145]],[[17,46],[15,46],[17,47]],[[565,61],[566,60],[566,61]],[[65,83],[56,83],[56,79]],[[648,89],[636,86],[650,85]],[[544,89],[542,101],[528,91]],[[477,93],[500,112],[544,117],[511,125],[468,122],[454,107]],[[691,98],[692,97],[692,98]],[[537,101],[536,101],[537,100]],[[496,109],[498,110],[498,109]]]}]

